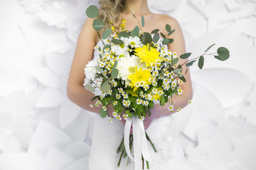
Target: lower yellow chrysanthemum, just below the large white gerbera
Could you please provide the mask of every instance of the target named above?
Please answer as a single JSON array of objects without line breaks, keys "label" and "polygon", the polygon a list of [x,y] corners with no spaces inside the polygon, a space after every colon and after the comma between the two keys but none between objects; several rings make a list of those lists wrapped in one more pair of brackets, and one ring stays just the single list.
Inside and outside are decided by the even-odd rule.
[{"label": "lower yellow chrysanthemum, just below the large white gerbera", "polygon": [[129,83],[129,86],[134,87],[134,91],[137,90],[137,87],[135,87],[135,84],[137,82],[144,81],[145,85],[151,84],[151,82],[149,81],[150,78],[151,78],[151,74],[149,69],[142,70],[142,67],[138,69],[137,66],[135,66],[135,72],[133,74],[129,74],[129,77],[127,77],[127,79],[131,81]]}]

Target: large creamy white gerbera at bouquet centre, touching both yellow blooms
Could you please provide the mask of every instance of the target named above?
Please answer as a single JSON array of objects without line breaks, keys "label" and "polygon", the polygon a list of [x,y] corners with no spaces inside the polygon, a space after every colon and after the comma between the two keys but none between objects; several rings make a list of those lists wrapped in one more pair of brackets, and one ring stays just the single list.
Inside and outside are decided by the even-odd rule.
[{"label": "large creamy white gerbera at bouquet centre, touching both yellow blooms", "polygon": [[129,55],[121,57],[117,62],[117,69],[119,71],[117,78],[122,78],[126,82],[129,81],[127,77],[135,72],[135,66],[137,66],[137,69],[146,69],[145,63],[141,62],[139,57],[135,55],[132,55],[132,57]]}]

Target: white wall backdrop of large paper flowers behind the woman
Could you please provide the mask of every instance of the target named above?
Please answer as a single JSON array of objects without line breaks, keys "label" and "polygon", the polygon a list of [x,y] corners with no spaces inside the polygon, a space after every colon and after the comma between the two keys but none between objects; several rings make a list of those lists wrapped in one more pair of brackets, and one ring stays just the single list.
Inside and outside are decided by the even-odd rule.
[{"label": "white wall backdrop of large paper flowers behind the woman", "polygon": [[[187,51],[215,42],[230,59],[191,67],[193,104],[174,114],[188,163],[256,168],[255,0],[149,0],[181,24]],[[0,169],[87,169],[95,113],[66,96],[68,72],[92,0],[0,5]],[[214,49],[213,49],[214,51]]]}]

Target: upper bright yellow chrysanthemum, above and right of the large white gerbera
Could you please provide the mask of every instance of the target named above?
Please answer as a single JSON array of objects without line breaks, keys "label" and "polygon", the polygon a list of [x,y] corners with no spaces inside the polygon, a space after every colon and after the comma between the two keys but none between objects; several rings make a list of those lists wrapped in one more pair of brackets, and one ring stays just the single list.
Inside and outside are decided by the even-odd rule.
[{"label": "upper bright yellow chrysanthemum, above and right of the large white gerbera", "polygon": [[150,47],[149,50],[149,44],[143,45],[143,47],[135,48],[135,52],[141,61],[146,63],[146,67],[149,67],[151,63],[156,62],[156,60],[160,58],[160,52],[158,52],[154,47]]}]

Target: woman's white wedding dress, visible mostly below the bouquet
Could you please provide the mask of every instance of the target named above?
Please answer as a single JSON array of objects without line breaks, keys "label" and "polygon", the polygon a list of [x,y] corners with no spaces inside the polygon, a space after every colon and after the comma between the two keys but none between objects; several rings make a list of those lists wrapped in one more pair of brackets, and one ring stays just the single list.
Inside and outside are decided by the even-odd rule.
[{"label": "woman's white wedding dress, visible mostly below the bouquet", "polygon": [[[100,44],[102,45],[101,41],[97,45]],[[94,57],[97,55],[95,50]],[[146,132],[157,150],[154,152],[153,147],[148,145],[151,157],[150,170],[193,170],[186,165],[172,115],[154,120]],[[120,157],[120,153],[117,154],[117,147],[122,141],[123,134],[124,125],[119,120],[114,119],[111,123],[108,118],[100,118],[99,114],[95,116],[90,149],[90,170],[132,170],[134,168],[132,160],[127,166],[127,157],[123,157],[120,166],[117,167]]]}]

